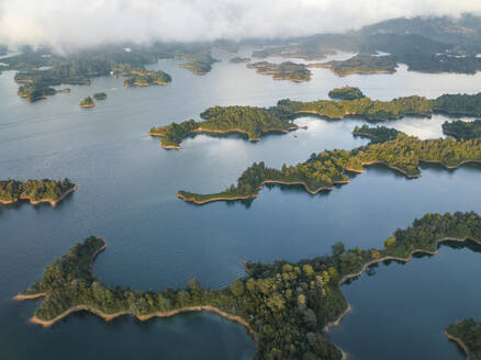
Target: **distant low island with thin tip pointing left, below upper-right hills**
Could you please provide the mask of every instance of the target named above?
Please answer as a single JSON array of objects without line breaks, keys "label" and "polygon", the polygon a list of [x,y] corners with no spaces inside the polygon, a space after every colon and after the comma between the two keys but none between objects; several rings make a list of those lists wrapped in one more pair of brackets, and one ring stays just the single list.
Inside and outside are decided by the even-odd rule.
[{"label": "distant low island with thin tip pointing left, below upper-right hills", "polygon": [[348,76],[351,74],[392,74],[395,72],[398,64],[390,56],[358,54],[344,61],[334,60],[311,66],[329,68],[338,76]]}]

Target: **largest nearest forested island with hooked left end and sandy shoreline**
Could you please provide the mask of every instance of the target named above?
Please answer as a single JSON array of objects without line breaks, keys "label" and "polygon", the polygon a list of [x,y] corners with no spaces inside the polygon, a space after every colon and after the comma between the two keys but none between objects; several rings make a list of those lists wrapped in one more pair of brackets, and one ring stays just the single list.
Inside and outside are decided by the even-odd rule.
[{"label": "largest nearest forested island with hooked left end and sandy shoreline", "polygon": [[[336,243],[331,255],[294,263],[247,261],[246,275],[221,290],[203,289],[190,279],[184,288],[155,292],[102,284],[92,270],[107,243],[92,236],[55,260],[38,282],[14,299],[43,297],[31,319],[42,326],[80,311],[105,320],[212,312],[247,328],[257,345],[254,359],[340,360],[347,355],[326,334],[350,311],[343,284],[377,263],[409,262],[415,254],[437,254],[440,244],[481,244],[480,238],[481,217],[476,213],[426,214],[406,229],[395,230],[380,249],[347,250]],[[479,346],[479,337],[476,342]]]}]

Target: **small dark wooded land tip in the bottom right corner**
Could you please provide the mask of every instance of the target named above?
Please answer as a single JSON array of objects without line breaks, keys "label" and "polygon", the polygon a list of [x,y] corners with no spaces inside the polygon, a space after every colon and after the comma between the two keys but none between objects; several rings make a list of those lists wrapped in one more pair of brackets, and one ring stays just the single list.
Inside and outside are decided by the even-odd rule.
[{"label": "small dark wooded land tip in the bottom right corner", "polygon": [[449,325],[445,335],[465,351],[468,360],[481,360],[481,323],[468,318]]}]

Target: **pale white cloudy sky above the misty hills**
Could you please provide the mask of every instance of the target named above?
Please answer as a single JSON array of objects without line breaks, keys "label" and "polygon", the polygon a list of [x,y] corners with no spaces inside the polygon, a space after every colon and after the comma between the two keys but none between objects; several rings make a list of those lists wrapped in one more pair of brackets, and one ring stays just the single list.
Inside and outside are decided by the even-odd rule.
[{"label": "pale white cloudy sky above the misty hills", "polygon": [[462,12],[481,14],[481,0],[0,0],[0,43],[293,37]]}]

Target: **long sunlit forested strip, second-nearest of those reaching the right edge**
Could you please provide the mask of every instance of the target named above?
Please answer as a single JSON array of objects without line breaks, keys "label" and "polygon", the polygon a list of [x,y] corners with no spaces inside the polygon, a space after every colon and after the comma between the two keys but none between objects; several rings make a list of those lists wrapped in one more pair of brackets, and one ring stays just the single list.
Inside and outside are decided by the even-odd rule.
[{"label": "long sunlit forested strip, second-nearest of those reaching the right edge", "polygon": [[[339,97],[359,97],[362,92],[357,88],[334,89],[329,93]],[[354,100],[317,100],[278,101],[276,106],[214,106],[200,114],[204,120],[197,122],[188,120],[182,123],[171,123],[166,126],[154,126],[148,133],[161,137],[164,148],[180,148],[180,143],[189,135],[197,133],[244,133],[249,140],[259,140],[261,135],[269,132],[287,133],[297,130],[293,120],[306,114],[328,120],[345,117],[363,117],[368,121],[388,121],[406,115],[430,116],[435,112],[450,112],[462,109],[466,114],[476,115],[481,112],[481,93],[444,94],[438,99],[423,97],[405,97],[391,101],[358,98]]]}]

